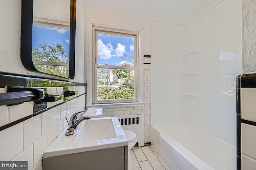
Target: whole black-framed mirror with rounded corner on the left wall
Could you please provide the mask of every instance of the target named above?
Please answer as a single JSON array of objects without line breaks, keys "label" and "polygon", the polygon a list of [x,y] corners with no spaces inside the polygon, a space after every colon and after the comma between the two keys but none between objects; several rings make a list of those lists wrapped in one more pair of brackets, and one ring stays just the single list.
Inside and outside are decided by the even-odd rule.
[{"label": "whole black-framed mirror with rounded corner on the left wall", "polygon": [[75,21],[76,0],[22,0],[25,68],[74,78]]}]

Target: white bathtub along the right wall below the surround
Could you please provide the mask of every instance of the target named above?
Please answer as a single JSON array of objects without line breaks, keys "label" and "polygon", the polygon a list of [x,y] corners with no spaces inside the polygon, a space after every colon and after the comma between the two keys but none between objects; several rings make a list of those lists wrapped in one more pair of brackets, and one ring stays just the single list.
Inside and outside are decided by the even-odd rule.
[{"label": "white bathtub along the right wall below the surround", "polygon": [[236,147],[191,125],[154,125],[151,141],[167,170],[236,169]]}]

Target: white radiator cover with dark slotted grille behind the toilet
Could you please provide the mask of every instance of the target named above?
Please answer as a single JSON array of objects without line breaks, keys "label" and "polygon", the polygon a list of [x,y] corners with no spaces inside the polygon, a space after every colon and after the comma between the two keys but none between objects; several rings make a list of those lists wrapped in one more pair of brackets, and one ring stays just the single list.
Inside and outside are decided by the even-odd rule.
[{"label": "white radiator cover with dark slotted grille behind the toilet", "polygon": [[122,115],[118,119],[123,129],[136,134],[138,147],[144,146],[144,115]]}]

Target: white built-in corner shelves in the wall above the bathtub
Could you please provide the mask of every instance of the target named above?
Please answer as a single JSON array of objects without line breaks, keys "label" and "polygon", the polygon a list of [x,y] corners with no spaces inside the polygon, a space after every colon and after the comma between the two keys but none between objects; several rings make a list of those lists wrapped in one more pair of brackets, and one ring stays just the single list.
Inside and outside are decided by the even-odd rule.
[{"label": "white built-in corner shelves in the wall above the bathtub", "polygon": [[181,56],[181,114],[180,121],[200,127],[201,119],[201,53],[190,50]]}]

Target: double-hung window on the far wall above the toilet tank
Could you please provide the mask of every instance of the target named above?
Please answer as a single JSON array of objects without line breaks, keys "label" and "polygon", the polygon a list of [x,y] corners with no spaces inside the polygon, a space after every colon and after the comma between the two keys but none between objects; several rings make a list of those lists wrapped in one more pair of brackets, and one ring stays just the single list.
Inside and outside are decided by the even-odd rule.
[{"label": "double-hung window on the far wall above the toilet tank", "polygon": [[92,30],[92,104],[139,102],[139,31]]}]

